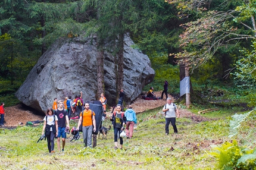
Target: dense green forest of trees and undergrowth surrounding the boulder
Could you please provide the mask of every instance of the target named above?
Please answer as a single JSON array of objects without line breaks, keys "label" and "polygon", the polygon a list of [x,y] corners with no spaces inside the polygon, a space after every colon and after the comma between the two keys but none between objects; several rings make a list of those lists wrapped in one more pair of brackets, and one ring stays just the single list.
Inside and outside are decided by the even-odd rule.
[{"label": "dense green forest of trees and undergrowth surrounding the boulder", "polygon": [[[218,155],[218,167],[255,169],[255,16],[256,0],[2,0],[0,99],[10,101],[5,106],[18,103],[15,92],[57,39],[93,35],[99,52],[97,78],[104,77],[102,52],[113,53],[118,92],[123,86],[124,36],[129,35],[133,48],[149,56],[156,73],[143,90],[163,90],[168,80],[168,93],[183,106],[179,82],[180,66],[185,66],[192,84],[192,111],[218,106],[239,114],[227,117],[230,136],[243,138],[241,147],[236,141],[221,146],[220,152],[233,157]],[[104,92],[104,81],[99,82],[98,94]]]}]

